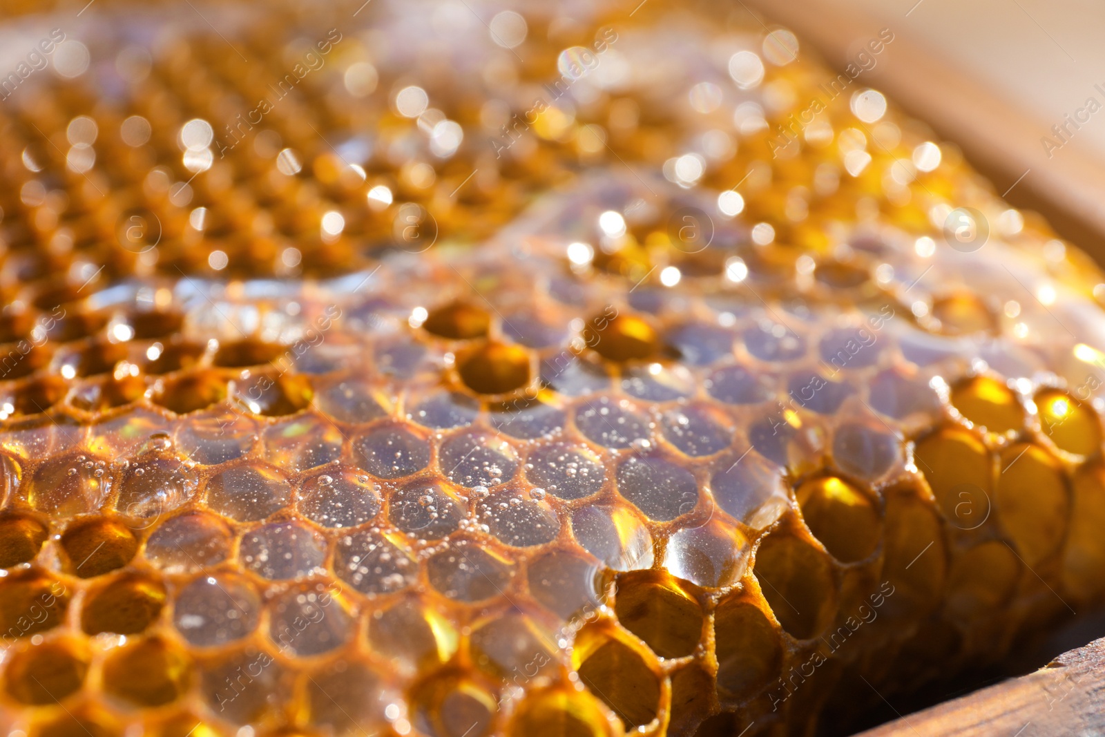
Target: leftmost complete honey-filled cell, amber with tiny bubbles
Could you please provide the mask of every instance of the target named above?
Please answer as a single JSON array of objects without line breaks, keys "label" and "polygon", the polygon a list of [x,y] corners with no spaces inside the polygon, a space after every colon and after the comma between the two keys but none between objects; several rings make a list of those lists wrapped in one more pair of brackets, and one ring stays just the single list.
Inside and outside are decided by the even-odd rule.
[{"label": "leftmost complete honey-filled cell, amber with tiny bubbles", "polygon": [[53,517],[95,512],[107,494],[104,465],[85,455],[50,457],[30,474],[27,501],[31,508]]}]

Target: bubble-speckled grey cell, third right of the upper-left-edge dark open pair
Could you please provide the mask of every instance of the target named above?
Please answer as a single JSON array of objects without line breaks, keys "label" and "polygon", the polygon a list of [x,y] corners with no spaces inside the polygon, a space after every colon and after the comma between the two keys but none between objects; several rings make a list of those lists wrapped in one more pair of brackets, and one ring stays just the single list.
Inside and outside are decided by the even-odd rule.
[{"label": "bubble-speckled grey cell, third right of the upper-left-edge dark open pair", "polygon": [[392,593],[413,583],[418,566],[399,540],[361,530],[338,540],[334,572],[357,591],[373,596]]}]

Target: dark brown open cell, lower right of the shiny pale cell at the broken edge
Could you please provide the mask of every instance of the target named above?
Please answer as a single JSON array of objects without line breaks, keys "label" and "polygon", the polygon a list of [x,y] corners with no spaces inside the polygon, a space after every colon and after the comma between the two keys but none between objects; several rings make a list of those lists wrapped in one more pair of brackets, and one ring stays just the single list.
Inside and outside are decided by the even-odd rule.
[{"label": "dark brown open cell, lower right of the shiny pale cell at the broken edge", "polygon": [[714,613],[717,689],[729,698],[747,698],[765,688],[782,664],[782,643],[759,607],[729,597]]}]

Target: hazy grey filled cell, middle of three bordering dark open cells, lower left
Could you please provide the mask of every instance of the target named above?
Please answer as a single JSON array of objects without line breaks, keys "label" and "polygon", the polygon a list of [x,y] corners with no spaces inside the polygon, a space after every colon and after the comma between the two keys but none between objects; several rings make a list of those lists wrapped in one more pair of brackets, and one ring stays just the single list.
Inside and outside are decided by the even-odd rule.
[{"label": "hazy grey filled cell, middle of three bordering dark open cells, lower left", "polygon": [[177,591],[172,623],[199,647],[215,647],[245,638],[261,619],[261,599],[242,576],[201,576]]}]

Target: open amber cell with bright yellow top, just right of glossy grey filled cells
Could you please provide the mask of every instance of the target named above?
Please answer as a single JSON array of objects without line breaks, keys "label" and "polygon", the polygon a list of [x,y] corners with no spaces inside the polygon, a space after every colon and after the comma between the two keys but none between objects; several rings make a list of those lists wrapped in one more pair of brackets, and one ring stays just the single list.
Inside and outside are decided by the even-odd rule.
[{"label": "open amber cell with bright yellow top, just right of glossy grey filled cells", "polygon": [[878,545],[878,509],[866,494],[843,478],[811,478],[798,487],[794,496],[813,537],[836,560],[863,560]]}]

